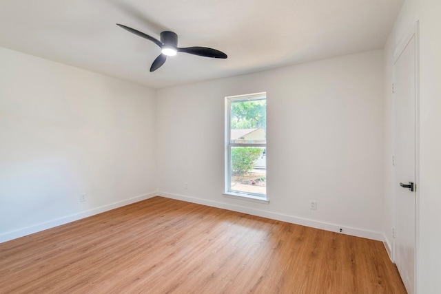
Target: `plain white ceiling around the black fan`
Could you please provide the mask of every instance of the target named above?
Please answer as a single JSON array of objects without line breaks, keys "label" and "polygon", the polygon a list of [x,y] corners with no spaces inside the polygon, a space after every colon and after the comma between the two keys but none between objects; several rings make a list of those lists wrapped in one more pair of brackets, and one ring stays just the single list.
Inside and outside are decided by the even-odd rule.
[{"label": "plain white ceiling around the black fan", "polygon": [[[0,46],[158,89],[381,49],[403,2],[1,0]],[[228,59],[178,53],[150,72],[160,48],[115,23]]]}]

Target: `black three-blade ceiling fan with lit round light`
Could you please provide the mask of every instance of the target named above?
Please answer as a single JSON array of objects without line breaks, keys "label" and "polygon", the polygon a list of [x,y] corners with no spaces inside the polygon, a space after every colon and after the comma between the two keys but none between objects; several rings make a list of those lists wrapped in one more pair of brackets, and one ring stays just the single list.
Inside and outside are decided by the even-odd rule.
[{"label": "black three-blade ceiling fan with lit round light", "polygon": [[133,34],[136,34],[137,36],[141,36],[144,39],[152,41],[153,43],[158,45],[159,48],[161,48],[161,54],[159,54],[159,56],[156,57],[156,59],[153,61],[152,66],[150,67],[150,72],[154,72],[159,67],[161,67],[165,63],[167,56],[174,56],[176,55],[177,52],[184,52],[198,56],[212,57],[215,59],[227,58],[227,54],[212,48],[207,48],[207,47],[179,48],[178,35],[175,34],[174,32],[170,32],[170,31],[161,32],[161,38],[160,38],[161,41],[159,41],[154,37],[149,36],[148,34],[144,34],[143,32],[139,32],[139,30],[129,28],[126,25],[121,25],[119,23],[116,23],[116,25],[119,25],[119,27]]}]

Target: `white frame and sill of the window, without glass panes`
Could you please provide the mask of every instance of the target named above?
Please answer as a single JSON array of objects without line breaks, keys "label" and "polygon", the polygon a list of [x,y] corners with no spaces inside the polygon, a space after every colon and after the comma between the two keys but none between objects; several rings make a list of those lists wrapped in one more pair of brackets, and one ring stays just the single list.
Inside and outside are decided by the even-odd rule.
[{"label": "white frame and sill of the window, without glass panes", "polygon": [[[251,200],[253,202],[269,203],[267,192],[265,194],[249,193],[245,191],[234,191],[231,189],[231,149],[232,147],[264,147],[267,148],[267,143],[231,143],[230,130],[231,130],[231,118],[230,109],[231,103],[240,101],[258,101],[267,99],[266,92],[245,94],[237,96],[225,97],[225,190],[223,195],[229,198],[238,198],[241,200]],[[267,154],[267,152],[266,152]]]}]

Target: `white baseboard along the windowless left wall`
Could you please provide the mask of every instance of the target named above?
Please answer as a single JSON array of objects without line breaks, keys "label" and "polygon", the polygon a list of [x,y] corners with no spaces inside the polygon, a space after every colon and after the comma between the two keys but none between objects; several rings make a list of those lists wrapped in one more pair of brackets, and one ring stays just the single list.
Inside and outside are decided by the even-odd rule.
[{"label": "white baseboard along the windowless left wall", "polygon": [[52,229],[54,227],[61,226],[61,224],[67,224],[69,222],[74,222],[75,220],[81,220],[81,218],[88,218],[89,216],[94,216],[98,213],[103,213],[105,211],[109,211],[112,209],[116,209],[118,207],[123,207],[128,204],[132,204],[134,202],[139,202],[148,198],[152,198],[156,196],[156,192],[147,193],[141,196],[136,196],[134,198],[121,200],[118,202],[110,203],[103,205],[101,207],[96,207],[94,209],[90,209],[88,211],[81,211],[79,213],[74,213],[70,216],[63,216],[62,218],[57,218],[55,220],[48,220],[47,222],[41,222],[39,224],[35,224],[30,227],[25,227],[23,229],[19,229],[17,231],[10,231],[7,233],[3,233],[0,235],[0,243],[10,241],[13,239],[17,239],[23,237],[25,235],[30,235],[32,233],[37,233],[39,231],[44,231],[47,229]]}]

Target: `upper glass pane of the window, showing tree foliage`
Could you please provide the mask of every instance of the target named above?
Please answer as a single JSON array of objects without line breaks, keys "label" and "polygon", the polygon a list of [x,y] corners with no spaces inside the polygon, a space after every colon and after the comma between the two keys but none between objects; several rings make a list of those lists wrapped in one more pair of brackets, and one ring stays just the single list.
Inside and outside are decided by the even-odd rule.
[{"label": "upper glass pane of the window, showing tree foliage", "polygon": [[231,101],[230,143],[266,143],[266,99]]}]

